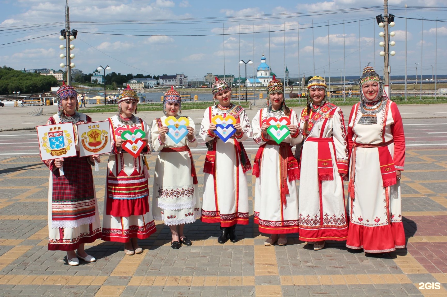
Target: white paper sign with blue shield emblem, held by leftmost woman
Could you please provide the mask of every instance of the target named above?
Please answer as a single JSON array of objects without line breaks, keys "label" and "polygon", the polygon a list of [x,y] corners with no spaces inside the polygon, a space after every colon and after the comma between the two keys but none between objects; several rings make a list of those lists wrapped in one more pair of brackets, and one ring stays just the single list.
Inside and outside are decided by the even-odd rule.
[{"label": "white paper sign with blue shield emblem, held by leftmost woman", "polygon": [[42,161],[75,157],[75,133],[72,123],[37,126]]}]

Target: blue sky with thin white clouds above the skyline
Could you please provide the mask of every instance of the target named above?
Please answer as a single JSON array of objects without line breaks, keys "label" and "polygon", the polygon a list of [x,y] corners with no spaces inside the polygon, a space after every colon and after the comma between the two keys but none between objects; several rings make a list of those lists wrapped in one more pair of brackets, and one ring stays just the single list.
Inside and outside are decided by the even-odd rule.
[{"label": "blue sky with thin white clouds above the skyline", "polygon": [[[59,49],[62,44],[59,31],[64,28],[65,3],[65,0],[0,0],[0,65],[15,69],[59,69],[64,62],[59,58],[64,53]],[[267,64],[280,77],[284,64],[291,77],[313,75],[314,64],[316,74],[328,76],[329,21],[331,76],[340,76],[340,72],[346,76],[358,75],[368,62],[383,73],[384,58],[379,55],[382,48],[378,45],[383,41],[379,37],[383,29],[375,22],[375,16],[384,13],[380,7],[383,3],[383,0],[68,0],[71,28],[79,31],[72,42],[76,47],[72,62],[84,73],[99,65],[109,65],[109,71],[117,73],[184,73],[192,80],[202,79],[208,72],[237,77],[240,59],[254,60],[254,66],[258,66],[264,53]],[[424,75],[434,70],[436,26],[437,73],[446,74],[447,1],[389,0],[388,4],[389,13],[396,16],[396,25],[391,28],[396,32],[391,39],[396,45],[390,47],[396,51],[390,57],[391,74],[405,73],[405,19],[401,18],[405,17],[405,4],[407,17],[417,19],[407,21],[408,74],[416,74],[415,63],[418,74],[421,64]],[[439,21],[424,21],[422,30],[422,18]],[[240,74],[245,76],[244,67],[240,67]],[[247,74],[253,75],[253,67],[249,66]]]}]

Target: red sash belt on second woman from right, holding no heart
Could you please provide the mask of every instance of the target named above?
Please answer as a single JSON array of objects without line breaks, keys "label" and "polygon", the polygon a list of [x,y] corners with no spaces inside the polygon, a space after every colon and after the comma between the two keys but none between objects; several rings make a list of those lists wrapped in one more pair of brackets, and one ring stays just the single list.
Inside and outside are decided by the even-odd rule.
[{"label": "red sash belt on second woman from right, holding no heart", "polygon": [[329,149],[329,143],[332,143],[335,153],[335,146],[333,144],[332,137],[318,138],[318,137],[308,137],[306,141],[318,142],[318,180],[319,181],[333,181],[333,163],[331,157],[331,151]]}]

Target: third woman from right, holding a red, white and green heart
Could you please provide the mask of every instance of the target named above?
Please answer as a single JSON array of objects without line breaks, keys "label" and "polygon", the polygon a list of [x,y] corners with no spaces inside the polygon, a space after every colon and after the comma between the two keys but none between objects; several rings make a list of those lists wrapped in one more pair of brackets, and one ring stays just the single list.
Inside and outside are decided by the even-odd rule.
[{"label": "third woman from right, holding a red, white and green heart", "polygon": [[[292,146],[303,138],[295,111],[286,106],[283,83],[274,76],[267,86],[267,96],[267,107],[259,110],[252,121],[253,140],[260,145],[253,165],[256,176],[254,222],[259,225],[260,232],[270,234],[264,245],[275,242],[286,245],[287,234],[298,232],[295,180],[299,169]],[[275,121],[279,124],[271,131],[285,131],[283,125],[287,125],[290,132],[279,144],[267,133]]]}]

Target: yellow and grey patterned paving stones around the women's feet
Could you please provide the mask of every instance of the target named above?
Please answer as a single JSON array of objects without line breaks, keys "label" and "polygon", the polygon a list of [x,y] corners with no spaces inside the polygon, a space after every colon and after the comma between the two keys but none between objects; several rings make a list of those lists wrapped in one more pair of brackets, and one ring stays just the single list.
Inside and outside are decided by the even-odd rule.
[{"label": "yellow and grey patterned paving stones around the women's feet", "polygon": [[[256,151],[248,153],[253,161]],[[148,158],[151,175],[156,155]],[[201,197],[205,155],[193,156]],[[156,233],[140,241],[143,254],[126,256],[122,243],[97,240],[86,245],[97,262],[73,267],[65,252],[47,250],[48,169],[38,155],[0,156],[0,296],[445,297],[446,157],[447,146],[407,148],[401,180],[407,249],[387,256],[365,256],[336,242],[313,251],[297,234],[288,236],[287,246],[265,247],[266,235],[253,224],[249,172],[250,224],[237,226],[239,242],[217,243],[219,225],[198,221],[185,226],[193,245],[173,250],[169,227],[157,221]],[[100,214],[106,160],[93,171]],[[440,289],[419,289],[437,282]]]}]

